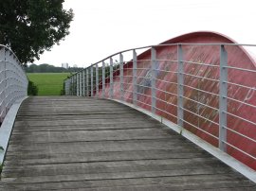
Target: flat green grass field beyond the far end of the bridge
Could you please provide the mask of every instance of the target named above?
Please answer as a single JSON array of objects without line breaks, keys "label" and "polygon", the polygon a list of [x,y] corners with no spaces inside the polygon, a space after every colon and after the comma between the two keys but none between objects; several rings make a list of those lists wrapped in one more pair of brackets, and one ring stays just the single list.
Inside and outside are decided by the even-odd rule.
[{"label": "flat green grass field beyond the far end of the bridge", "polygon": [[27,73],[38,87],[38,96],[59,96],[69,73]]}]

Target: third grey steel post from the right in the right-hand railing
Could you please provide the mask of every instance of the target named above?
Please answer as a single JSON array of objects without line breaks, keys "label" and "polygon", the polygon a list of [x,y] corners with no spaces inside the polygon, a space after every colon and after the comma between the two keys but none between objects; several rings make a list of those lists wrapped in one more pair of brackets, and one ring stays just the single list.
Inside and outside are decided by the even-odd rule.
[{"label": "third grey steel post from the right in the right-hand railing", "polygon": [[156,50],[151,48],[151,112],[155,113],[156,92],[155,92],[155,78],[156,78]]}]

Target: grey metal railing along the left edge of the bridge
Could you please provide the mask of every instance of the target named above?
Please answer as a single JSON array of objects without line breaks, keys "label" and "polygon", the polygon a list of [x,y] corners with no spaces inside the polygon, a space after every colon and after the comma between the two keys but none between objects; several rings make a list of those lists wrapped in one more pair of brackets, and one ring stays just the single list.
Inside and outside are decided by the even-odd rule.
[{"label": "grey metal railing along the left edge of the bridge", "polygon": [[16,55],[0,45],[0,123],[4,121],[11,105],[27,96],[27,76]]}]

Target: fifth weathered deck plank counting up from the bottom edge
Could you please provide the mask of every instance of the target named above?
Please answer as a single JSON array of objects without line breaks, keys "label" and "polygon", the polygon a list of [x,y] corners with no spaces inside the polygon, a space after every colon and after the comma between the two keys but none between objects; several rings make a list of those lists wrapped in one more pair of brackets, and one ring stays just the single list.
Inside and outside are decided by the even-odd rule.
[{"label": "fifth weathered deck plank counting up from the bottom edge", "polygon": [[[75,149],[74,149],[75,148]],[[41,144],[9,145],[9,153],[22,152],[27,154],[53,152],[53,153],[76,153],[98,151],[122,151],[122,150],[151,150],[151,149],[193,149],[189,142],[180,142],[177,139],[162,140],[126,140],[126,141],[99,141],[99,142],[53,142]]]}]

